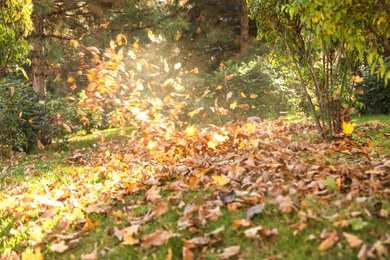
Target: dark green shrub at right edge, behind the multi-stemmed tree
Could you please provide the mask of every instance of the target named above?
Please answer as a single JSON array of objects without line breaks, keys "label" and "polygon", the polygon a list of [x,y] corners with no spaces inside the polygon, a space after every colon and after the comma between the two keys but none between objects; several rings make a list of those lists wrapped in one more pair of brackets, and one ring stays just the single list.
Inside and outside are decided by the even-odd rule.
[{"label": "dark green shrub at right edge, behind the multi-stemmed tree", "polygon": [[[387,67],[390,67],[390,57],[385,59]],[[379,69],[377,67],[377,69]],[[363,81],[357,86],[363,91],[360,101],[364,107],[359,111],[364,114],[390,114],[390,88],[378,78],[378,74],[371,74],[370,66],[363,67]]]}]

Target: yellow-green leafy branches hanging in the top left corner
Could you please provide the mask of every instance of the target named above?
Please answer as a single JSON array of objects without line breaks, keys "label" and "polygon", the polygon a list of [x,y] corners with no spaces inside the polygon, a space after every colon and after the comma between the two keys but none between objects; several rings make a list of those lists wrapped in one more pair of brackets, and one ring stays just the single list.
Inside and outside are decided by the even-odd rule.
[{"label": "yellow-green leafy branches hanging in the top left corner", "polygon": [[25,38],[33,29],[31,12],[31,0],[0,0],[0,81],[10,67],[21,70],[20,65],[28,62]]}]

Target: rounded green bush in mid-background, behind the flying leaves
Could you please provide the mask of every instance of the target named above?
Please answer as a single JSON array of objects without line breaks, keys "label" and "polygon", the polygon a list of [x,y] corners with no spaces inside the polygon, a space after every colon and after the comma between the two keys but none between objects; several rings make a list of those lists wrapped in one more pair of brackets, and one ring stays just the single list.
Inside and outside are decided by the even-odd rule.
[{"label": "rounded green bush in mid-background, behind the flying leaves", "polygon": [[[250,116],[263,119],[278,117],[280,112],[295,108],[301,102],[295,89],[286,83],[278,70],[263,57],[257,57],[248,63],[235,64],[229,61],[221,64],[214,73],[192,83],[192,100],[187,102],[183,120],[199,120],[204,112],[216,115],[208,116],[205,123],[226,123]],[[184,84],[189,85],[188,82]],[[231,114],[217,116],[216,104],[218,108],[227,109]],[[196,116],[187,116],[191,111],[202,107],[203,110]]]}]

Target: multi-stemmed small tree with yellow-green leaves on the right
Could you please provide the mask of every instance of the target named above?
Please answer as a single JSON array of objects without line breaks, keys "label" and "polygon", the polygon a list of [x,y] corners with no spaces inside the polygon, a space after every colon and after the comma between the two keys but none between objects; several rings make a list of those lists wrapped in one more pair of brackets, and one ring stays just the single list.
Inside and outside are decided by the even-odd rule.
[{"label": "multi-stemmed small tree with yellow-green leaves on the right", "polygon": [[258,38],[273,47],[275,61],[295,71],[323,137],[337,133],[353,111],[351,79],[364,58],[390,78],[381,56],[388,51],[390,1],[380,3],[387,8],[373,0],[248,0]]}]

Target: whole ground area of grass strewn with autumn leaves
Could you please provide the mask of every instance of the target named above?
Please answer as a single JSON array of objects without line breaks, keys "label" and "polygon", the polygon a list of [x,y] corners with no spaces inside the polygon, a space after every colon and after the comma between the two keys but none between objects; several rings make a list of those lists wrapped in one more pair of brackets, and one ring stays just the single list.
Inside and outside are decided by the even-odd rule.
[{"label": "whole ground area of grass strewn with autumn leaves", "polygon": [[129,131],[8,161],[24,176],[2,177],[2,259],[389,257],[389,151],[370,140],[388,124]]}]

